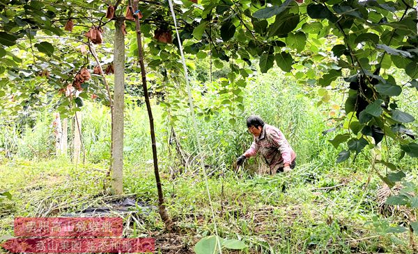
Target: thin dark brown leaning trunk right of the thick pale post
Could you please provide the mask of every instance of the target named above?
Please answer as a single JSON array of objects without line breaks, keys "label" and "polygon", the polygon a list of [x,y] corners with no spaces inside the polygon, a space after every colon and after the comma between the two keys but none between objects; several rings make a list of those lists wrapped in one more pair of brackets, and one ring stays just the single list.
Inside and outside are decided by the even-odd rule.
[{"label": "thin dark brown leaning trunk right of the thick pale post", "polygon": [[[129,1],[130,8],[132,13],[135,13],[138,10],[138,0],[134,0],[134,6],[132,10],[132,0]],[[142,53],[142,42],[141,42],[141,24],[139,23],[139,19],[137,15],[134,15],[135,24],[136,24],[136,31],[137,31],[137,43],[138,43],[138,60],[139,65],[141,66],[141,77],[142,77],[142,87],[144,89],[144,96],[145,96],[145,103],[146,103],[146,110],[148,111],[148,118],[150,120],[150,133],[151,133],[151,143],[153,149],[153,162],[154,162],[154,173],[155,173],[155,181],[157,183],[157,192],[158,192],[158,211],[160,212],[160,217],[167,228],[167,230],[171,230],[173,226],[173,222],[169,218],[169,214],[164,205],[164,194],[162,192],[162,185],[160,180],[160,172],[158,171],[158,160],[157,160],[157,146],[155,145],[155,130],[154,130],[154,119],[153,119],[153,112],[151,110],[150,105],[150,98],[148,96],[148,89],[146,87],[146,71],[144,66],[144,56]]]}]

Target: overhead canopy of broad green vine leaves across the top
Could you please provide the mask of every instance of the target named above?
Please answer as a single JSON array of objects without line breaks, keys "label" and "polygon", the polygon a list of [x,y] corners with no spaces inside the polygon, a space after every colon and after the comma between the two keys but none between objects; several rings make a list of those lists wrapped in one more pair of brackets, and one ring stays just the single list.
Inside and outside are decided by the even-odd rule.
[{"label": "overhead canopy of broad green vine leaves across the top", "polygon": [[[332,140],[336,147],[348,142],[348,149],[339,154],[339,161],[346,160],[351,153],[359,153],[368,144],[381,142],[385,136],[398,140],[403,153],[418,156],[418,145],[410,137],[403,138],[408,132],[404,124],[415,119],[396,103],[396,96],[418,89],[414,1],[174,3],[185,52],[198,59],[210,56],[215,67],[229,65],[229,79],[219,86],[219,94],[224,94],[224,104],[229,108],[243,108],[241,90],[256,69],[254,65],[266,72],[275,63],[300,83],[338,85],[347,92],[344,126],[349,133]],[[141,15],[141,32],[147,38],[148,67],[171,76],[181,74],[168,2],[141,1],[139,10],[136,15]],[[102,29],[105,33],[113,28],[112,19],[125,15],[132,15],[127,11],[127,1],[3,1],[0,96],[22,101],[16,106],[20,110],[22,106],[35,106],[38,94],[52,98],[71,85],[83,67],[93,73],[95,66],[80,51],[80,46],[88,42],[85,34],[93,28],[94,35],[101,35]],[[133,27],[134,23],[127,19],[127,31],[133,31]],[[90,38],[98,43],[99,39],[109,43],[105,36],[98,40]],[[134,54],[136,45],[128,46]],[[111,62],[110,58],[103,59],[103,64]],[[405,72],[410,78],[408,82],[395,80],[392,75],[395,67]],[[95,93],[105,96],[97,83],[89,81],[81,86],[84,89],[90,86]],[[1,104],[7,108],[8,101],[2,100]]]}]

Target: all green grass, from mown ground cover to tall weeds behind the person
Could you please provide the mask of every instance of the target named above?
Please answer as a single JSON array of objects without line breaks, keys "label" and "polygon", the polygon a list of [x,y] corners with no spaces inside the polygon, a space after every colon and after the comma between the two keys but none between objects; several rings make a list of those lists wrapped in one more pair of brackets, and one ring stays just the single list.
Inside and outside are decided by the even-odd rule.
[{"label": "all green grass, from mown ground cover to tall weeds behind the person", "polygon": [[[200,96],[196,91],[194,95]],[[212,105],[217,94],[211,91],[196,99],[196,108]],[[371,170],[370,149],[362,151],[355,161],[352,156],[336,164],[336,154],[346,149],[346,144],[334,149],[328,140],[345,130],[322,134],[339,124],[327,111],[341,104],[341,94],[332,94],[332,100],[320,106],[316,100],[311,90],[269,71],[249,82],[243,112],[223,108],[210,118],[197,117],[219,235],[242,239],[248,248],[241,253],[412,253],[408,233],[384,232],[385,227],[398,226],[394,221],[399,219],[378,214],[376,192],[382,181]],[[199,239],[215,233],[206,183],[198,167],[192,119],[187,108],[171,112],[175,121],[168,120],[166,108],[156,101],[153,110],[164,196],[178,231],[164,232],[155,209],[157,188],[146,110],[127,103],[123,188],[145,208],[135,208],[144,210],[137,214],[130,211],[121,215],[124,235],[155,237],[160,253],[190,253]],[[231,113],[236,116],[233,125],[229,124]],[[54,156],[52,117],[47,110],[32,115],[30,122],[0,126],[5,134],[0,147],[7,147],[13,155],[6,158],[6,153],[0,153],[0,191],[13,195],[11,201],[0,200],[0,235],[13,235],[13,218],[17,216],[65,216],[123,198],[107,194],[109,109],[86,102],[83,114],[86,164],[77,166],[65,156]],[[297,153],[297,167],[291,174],[257,175],[254,172],[261,167],[261,158],[251,158],[241,171],[232,171],[235,158],[251,144],[245,126],[245,117],[251,114],[261,115],[283,131]],[[24,124],[33,128],[22,128]],[[171,126],[187,156],[187,166],[180,163],[176,147],[169,144]],[[416,125],[412,129],[416,130]],[[417,183],[413,170],[418,167],[417,160],[407,156],[398,162],[399,152],[398,147],[389,153],[385,146],[382,148],[383,158],[389,154],[389,161],[396,162],[408,173],[408,180]],[[382,173],[386,170],[381,164],[376,169]],[[171,251],[167,246],[173,247]]]}]

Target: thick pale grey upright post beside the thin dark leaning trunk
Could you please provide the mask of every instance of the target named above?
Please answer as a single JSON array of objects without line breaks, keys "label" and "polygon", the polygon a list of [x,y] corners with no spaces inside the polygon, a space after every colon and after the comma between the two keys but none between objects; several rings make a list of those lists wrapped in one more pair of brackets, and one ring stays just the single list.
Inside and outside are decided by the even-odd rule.
[{"label": "thick pale grey upright post beside the thin dark leaning trunk", "polygon": [[121,26],[123,21],[117,19],[115,22],[114,41],[114,67],[115,67],[115,88],[114,108],[112,114],[111,129],[111,169],[112,169],[112,190],[114,194],[123,193],[123,108],[125,92],[125,37]]}]

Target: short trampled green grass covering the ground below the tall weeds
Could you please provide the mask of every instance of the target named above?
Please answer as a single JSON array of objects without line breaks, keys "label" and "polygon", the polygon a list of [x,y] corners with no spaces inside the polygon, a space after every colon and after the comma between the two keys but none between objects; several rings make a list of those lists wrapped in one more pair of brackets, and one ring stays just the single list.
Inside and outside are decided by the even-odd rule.
[{"label": "short trampled green grass covering the ground below the tall weeds", "polygon": [[[219,235],[242,239],[249,246],[242,253],[268,253],[268,249],[274,253],[412,253],[408,234],[378,235],[371,223],[372,217],[379,216],[373,201],[378,179],[373,178],[363,190],[364,171],[324,170],[315,178],[311,174],[314,168],[314,164],[304,164],[288,175],[225,171],[224,176],[210,177]],[[102,165],[74,167],[65,160],[3,161],[0,189],[10,190],[13,199],[1,201],[0,234],[13,235],[17,216],[62,216],[101,205],[106,198],[104,172]],[[155,206],[153,172],[132,168],[125,172],[125,193]],[[188,174],[175,180],[164,172],[162,176],[167,209],[183,244],[193,246],[200,237],[214,234],[201,176]],[[316,189],[340,184],[335,189]],[[125,236],[161,234],[163,229],[153,209],[141,214],[135,232],[127,230]],[[400,242],[394,244],[394,237]]]}]

